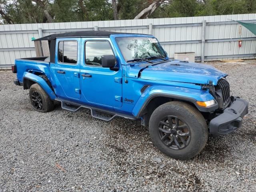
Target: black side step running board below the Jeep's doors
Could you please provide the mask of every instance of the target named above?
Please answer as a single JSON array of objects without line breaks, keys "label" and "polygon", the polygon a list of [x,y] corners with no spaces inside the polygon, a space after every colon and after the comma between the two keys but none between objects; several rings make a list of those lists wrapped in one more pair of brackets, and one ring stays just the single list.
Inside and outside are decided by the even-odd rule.
[{"label": "black side step running board below the Jeep's doors", "polygon": [[55,100],[61,102],[61,108],[62,109],[66,109],[66,110],[71,111],[71,112],[76,112],[80,108],[88,108],[88,109],[91,110],[92,117],[100,119],[100,120],[104,120],[104,121],[107,121],[107,122],[113,120],[117,116],[127,118],[127,119],[137,120],[137,118],[135,118],[134,116],[130,116],[130,115],[113,113],[113,112],[108,111],[108,110],[102,110],[102,109],[99,109],[99,108],[94,108],[94,107],[91,107],[91,106],[88,106],[88,105],[83,105],[83,104],[77,104],[77,103],[69,102],[69,101],[66,101],[66,100],[60,100],[60,99],[55,99]]}]

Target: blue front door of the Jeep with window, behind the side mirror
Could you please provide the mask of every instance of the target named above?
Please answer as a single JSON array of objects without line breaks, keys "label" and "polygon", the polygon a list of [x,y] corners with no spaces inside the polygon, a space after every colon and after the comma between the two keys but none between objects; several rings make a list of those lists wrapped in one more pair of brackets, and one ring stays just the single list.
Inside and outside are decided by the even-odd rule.
[{"label": "blue front door of the Jeep with window, behind the side mirror", "polygon": [[[122,106],[122,68],[118,71],[103,68],[102,55],[116,56],[108,38],[83,38],[84,58],[81,60],[81,90],[86,102],[108,107]],[[82,51],[81,51],[82,52]],[[116,57],[117,58],[117,57]]]}]

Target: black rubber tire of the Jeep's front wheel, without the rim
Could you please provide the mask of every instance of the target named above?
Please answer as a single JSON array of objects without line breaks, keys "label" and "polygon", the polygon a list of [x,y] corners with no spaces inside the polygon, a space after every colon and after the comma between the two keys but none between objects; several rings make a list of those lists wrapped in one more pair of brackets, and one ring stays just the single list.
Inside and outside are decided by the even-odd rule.
[{"label": "black rubber tire of the Jeep's front wheel, without the rim", "polygon": [[[182,119],[190,129],[190,142],[185,148],[179,150],[169,148],[160,138],[159,123],[164,116],[170,115]],[[152,141],[160,151],[180,160],[187,160],[199,154],[208,140],[206,120],[194,106],[185,102],[168,102],[156,108],[150,117],[149,131]]]}]

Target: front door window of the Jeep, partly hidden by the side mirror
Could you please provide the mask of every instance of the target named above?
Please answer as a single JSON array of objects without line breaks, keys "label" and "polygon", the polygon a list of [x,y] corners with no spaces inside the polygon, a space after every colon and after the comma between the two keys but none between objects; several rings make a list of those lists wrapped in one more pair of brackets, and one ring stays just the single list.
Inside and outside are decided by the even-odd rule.
[{"label": "front door window of the Jeep, partly hidden by the side mirror", "polygon": [[86,65],[101,66],[102,55],[114,55],[108,41],[87,41],[85,43]]}]

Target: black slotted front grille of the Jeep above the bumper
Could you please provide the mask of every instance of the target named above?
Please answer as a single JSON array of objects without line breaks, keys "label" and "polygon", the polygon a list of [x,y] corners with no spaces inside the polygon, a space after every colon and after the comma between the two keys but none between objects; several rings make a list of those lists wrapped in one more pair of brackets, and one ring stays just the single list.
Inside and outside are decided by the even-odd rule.
[{"label": "black slotted front grille of the Jeep above the bumper", "polygon": [[215,96],[220,109],[228,106],[230,102],[230,86],[226,79],[218,80],[218,84],[215,87]]}]

